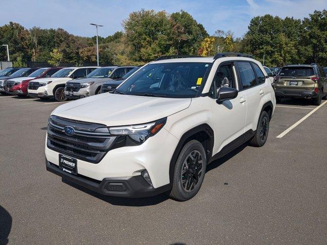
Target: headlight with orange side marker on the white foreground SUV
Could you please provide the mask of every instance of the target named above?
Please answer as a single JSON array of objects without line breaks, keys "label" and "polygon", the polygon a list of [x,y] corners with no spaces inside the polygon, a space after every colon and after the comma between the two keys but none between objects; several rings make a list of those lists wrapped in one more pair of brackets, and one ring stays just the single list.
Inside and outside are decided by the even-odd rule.
[{"label": "headlight with orange side marker on the white foreground SUV", "polygon": [[166,121],[167,117],[149,122],[148,124],[109,127],[109,132],[113,136],[123,136],[125,146],[140,145],[149,137],[158,133],[164,127]]}]

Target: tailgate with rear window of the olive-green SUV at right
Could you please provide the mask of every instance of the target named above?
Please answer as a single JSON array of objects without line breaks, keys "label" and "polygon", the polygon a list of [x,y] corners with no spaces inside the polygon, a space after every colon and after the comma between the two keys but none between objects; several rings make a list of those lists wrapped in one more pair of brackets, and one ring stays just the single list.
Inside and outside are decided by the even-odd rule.
[{"label": "tailgate with rear window of the olive-green SUV at right", "polygon": [[311,66],[285,66],[279,72],[279,80],[276,86],[283,89],[313,90],[316,77],[315,71]]}]

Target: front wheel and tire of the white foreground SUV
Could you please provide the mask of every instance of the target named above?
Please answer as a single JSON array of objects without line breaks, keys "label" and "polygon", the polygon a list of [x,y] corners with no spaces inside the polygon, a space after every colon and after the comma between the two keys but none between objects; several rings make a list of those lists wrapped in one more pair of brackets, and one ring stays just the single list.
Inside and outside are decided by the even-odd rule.
[{"label": "front wheel and tire of the white foreground SUV", "polygon": [[206,164],[203,145],[197,140],[186,143],[176,161],[170,197],[178,201],[193,198],[202,185]]}]

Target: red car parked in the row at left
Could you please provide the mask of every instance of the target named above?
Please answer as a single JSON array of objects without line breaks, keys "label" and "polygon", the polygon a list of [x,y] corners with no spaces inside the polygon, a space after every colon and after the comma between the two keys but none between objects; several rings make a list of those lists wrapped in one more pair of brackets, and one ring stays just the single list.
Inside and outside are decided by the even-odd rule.
[{"label": "red car parked in the row at left", "polygon": [[6,81],[5,91],[9,94],[18,96],[27,95],[27,87],[31,80],[39,78],[47,78],[54,75],[58,70],[64,67],[45,67],[37,69],[32,72],[28,77],[13,78]]}]

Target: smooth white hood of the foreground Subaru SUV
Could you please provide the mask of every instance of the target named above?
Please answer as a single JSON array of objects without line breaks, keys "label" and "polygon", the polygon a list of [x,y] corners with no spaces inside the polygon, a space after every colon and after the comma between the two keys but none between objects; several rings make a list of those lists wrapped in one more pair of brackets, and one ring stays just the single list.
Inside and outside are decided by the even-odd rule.
[{"label": "smooth white hood of the foreground Subaru SUV", "polygon": [[184,110],[190,104],[190,98],[102,93],[68,102],[57,107],[52,114],[106,126],[124,126],[154,121]]}]

